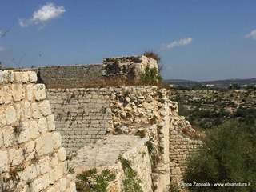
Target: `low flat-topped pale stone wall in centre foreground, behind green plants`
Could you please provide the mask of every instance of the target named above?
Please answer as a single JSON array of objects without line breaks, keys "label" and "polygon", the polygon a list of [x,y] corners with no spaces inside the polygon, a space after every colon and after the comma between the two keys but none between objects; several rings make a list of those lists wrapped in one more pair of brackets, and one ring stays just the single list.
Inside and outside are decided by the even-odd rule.
[{"label": "low flat-topped pale stone wall in centre foreground, behind green plants", "polygon": [[127,177],[120,161],[122,157],[136,172],[136,178],[141,180],[142,191],[152,192],[151,162],[146,142],[148,138],[138,138],[134,135],[109,135],[104,141],[78,150],[78,155],[72,159],[70,166],[74,167],[75,174],[95,167],[98,172],[112,170],[116,179],[110,183],[109,191],[122,192],[122,182]]}]

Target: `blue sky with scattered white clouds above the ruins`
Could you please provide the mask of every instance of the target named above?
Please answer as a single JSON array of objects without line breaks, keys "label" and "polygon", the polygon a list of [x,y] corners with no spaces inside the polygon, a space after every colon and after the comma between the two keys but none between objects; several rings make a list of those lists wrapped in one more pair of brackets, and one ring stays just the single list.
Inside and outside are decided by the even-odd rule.
[{"label": "blue sky with scattered white clouds above the ruins", "polygon": [[101,63],[154,50],[164,78],[256,77],[254,0],[2,0],[6,66]]}]

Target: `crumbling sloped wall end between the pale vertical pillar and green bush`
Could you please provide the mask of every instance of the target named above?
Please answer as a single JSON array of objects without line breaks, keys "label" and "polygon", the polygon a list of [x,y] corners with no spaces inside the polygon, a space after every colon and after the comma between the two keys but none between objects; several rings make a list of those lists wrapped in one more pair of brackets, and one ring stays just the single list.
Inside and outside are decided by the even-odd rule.
[{"label": "crumbling sloped wall end between the pale vertical pillar and green bush", "polygon": [[202,146],[200,135],[190,122],[178,116],[178,103],[170,107],[170,180],[176,184],[182,182],[186,169],[186,159]]}]

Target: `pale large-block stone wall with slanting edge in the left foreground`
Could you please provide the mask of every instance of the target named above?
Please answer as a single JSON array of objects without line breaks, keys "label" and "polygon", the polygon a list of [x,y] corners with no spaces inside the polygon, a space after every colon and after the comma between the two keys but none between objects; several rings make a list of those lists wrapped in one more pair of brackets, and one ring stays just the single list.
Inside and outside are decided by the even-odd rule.
[{"label": "pale large-block stone wall with slanting edge in the left foreground", "polygon": [[35,72],[0,70],[0,191],[76,191]]}]

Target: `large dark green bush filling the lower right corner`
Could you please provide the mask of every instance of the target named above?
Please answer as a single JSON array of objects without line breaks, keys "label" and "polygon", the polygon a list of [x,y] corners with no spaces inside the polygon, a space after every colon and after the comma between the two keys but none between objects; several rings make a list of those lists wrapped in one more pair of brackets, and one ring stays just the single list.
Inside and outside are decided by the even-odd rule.
[{"label": "large dark green bush filling the lower right corner", "polygon": [[226,122],[207,134],[202,150],[187,164],[186,183],[247,183],[250,186],[189,187],[190,191],[256,190],[256,126]]}]

